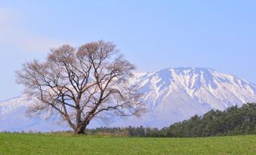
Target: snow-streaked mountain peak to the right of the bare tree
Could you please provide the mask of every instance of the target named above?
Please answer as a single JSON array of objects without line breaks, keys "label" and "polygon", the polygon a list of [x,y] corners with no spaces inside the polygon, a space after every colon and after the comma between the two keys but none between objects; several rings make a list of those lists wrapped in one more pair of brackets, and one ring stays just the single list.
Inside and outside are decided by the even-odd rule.
[{"label": "snow-streaked mountain peak to the right of the bare tree", "polygon": [[146,94],[149,114],[142,123],[147,126],[168,126],[211,109],[256,102],[254,84],[210,68],[166,68],[135,77]]}]

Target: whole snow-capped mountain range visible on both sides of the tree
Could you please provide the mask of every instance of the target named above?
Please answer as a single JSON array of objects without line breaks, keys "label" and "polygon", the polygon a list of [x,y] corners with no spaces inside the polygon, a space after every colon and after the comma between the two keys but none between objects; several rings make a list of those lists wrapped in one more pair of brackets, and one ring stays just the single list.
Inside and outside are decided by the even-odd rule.
[{"label": "whole snow-capped mountain range visible on both sides of the tree", "polygon": [[[235,76],[210,68],[166,68],[150,73],[135,73],[131,83],[139,84],[145,94],[148,112],[140,119],[116,120],[109,126],[169,126],[211,109],[224,110],[256,102],[256,86]],[[69,129],[52,119],[26,117],[26,108],[34,99],[21,96],[0,102],[0,131]],[[94,121],[90,127],[106,126]]]}]

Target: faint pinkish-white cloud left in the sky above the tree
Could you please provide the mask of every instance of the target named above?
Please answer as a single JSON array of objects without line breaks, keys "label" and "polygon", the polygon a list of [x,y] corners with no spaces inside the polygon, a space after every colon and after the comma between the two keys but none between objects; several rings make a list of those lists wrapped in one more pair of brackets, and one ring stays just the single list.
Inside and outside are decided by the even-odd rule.
[{"label": "faint pinkish-white cloud left in the sky above the tree", "polygon": [[0,8],[0,44],[19,47],[28,52],[45,52],[58,47],[66,41],[47,38],[20,27],[15,21],[13,11]]}]

